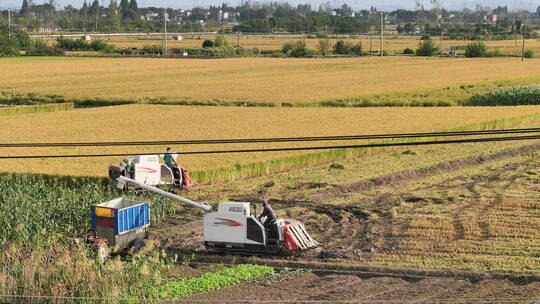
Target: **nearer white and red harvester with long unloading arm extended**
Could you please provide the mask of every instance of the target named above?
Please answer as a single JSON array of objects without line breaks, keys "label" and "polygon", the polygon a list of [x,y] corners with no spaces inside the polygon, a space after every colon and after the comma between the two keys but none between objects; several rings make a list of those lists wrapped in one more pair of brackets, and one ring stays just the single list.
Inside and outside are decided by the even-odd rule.
[{"label": "nearer white and red harvester with long unloading arm extended", "polygon": [[224,202],[219,204],[217,212],[212,212],[210,205],[191,201],[124,176],[118,177],[117,183],[119,188],[131,184],[204,210],[204,245],[211,251],[291,255],[320,246],[301,222],[258,216],[251,203]]}]

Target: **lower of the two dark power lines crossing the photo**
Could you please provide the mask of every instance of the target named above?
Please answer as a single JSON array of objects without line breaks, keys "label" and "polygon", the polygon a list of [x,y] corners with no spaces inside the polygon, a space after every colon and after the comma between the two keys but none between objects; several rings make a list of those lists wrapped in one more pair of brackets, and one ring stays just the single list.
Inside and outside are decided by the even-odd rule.
[{"label": "lower of the two dark power lines crossing the photo", "polygon": [[[381,147],[403,147],[403,146],[427,146],[427,145],[446,145],[446,144],[465,144],[465,143],[486,143],[503,141],[523,141],[540,139],[540,135],[531,136],[506,136],[491,138],[474,139],[456,139],[440,141],[420,141],[420,142],[399,142],[399,143],[380,143],[365,145],[342,145],[342,146],[319,146],[319,147],[290,147],[290,148],[269,148],[269,149],[239,149],[239,150],[215,150],[215,151],[191,151],[175,152],[178,155],[200,155],[200,154],[230,154],[230,153],[256,153],[256,152],[284,152],[284,151],[316,151],[316,150],[336,150],[336,149],[359,149],[359,148],[381,148]],[[20,155],[20,156],[0,156],[0,159],[46,159],[46,158],[95,158],[95,157],[113,157],[113,156],[132,156],[132,155],[158,155],[163,152],[155,153],[114,153],[114,154],[71,154],[71,155]]]}]

